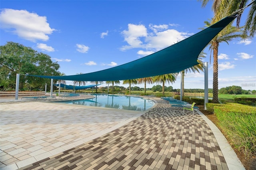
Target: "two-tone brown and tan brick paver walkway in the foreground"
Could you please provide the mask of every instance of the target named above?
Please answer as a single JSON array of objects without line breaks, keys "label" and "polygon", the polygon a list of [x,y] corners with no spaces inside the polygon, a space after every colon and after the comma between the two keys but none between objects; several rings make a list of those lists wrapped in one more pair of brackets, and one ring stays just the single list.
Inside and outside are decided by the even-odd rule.
[{"label": "two-tone brown and tan brick paver walkway in the foreground", "polygon": [[212,130],[197,113],[156,107],[94,140],[20,169],[227,170]]}]

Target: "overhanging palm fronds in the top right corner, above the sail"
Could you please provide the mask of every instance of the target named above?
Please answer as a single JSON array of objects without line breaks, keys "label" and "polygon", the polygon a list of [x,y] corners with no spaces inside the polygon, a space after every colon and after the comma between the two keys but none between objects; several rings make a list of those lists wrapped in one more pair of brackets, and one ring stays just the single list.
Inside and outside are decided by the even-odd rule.
[{"label": "overhanging palm fronds in the top right corner, above the sail", "polygon": [[[202,2],[202,6],[205,7],[206,4],[209,2],[209,0],[199,0]],[[219,21],[222,19],[224,16],[229,16],[233,12],[236,12],[242,8],[246,7],[246,4],[250,2],[251,0],[214,0],[213,5],[212,5],[212,10],[214,11],[214,20]],[[254,3],[254,4],[252,4]],[[254,37],[256,33],[256,2],[251,2],[250,4],[250,10],[246,18],[243,34],[248,35],[252,38]],[[236,25],[239,27],[240,25],[240,19],[241,15],[238,14],[237,20],[236,20]]]}]

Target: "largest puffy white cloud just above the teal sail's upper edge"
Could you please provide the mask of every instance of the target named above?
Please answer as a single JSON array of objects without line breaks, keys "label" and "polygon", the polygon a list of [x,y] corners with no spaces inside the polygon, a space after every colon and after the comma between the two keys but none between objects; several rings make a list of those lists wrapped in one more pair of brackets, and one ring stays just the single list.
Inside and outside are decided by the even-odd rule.
[{"label": "largest puffy white cloud just above the teal sail's upper edge", "polygon": [[128,45],[122,46],[122,51],[132,48],[144,48],[146,51],[158,51],[174,43],[188,38],[192,34],[168,29],[168,25],[149,25],[149,31],[144,25],[128,24],[128,30],[122,32]]}]

